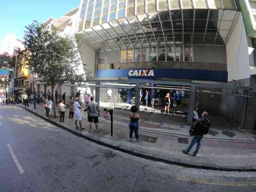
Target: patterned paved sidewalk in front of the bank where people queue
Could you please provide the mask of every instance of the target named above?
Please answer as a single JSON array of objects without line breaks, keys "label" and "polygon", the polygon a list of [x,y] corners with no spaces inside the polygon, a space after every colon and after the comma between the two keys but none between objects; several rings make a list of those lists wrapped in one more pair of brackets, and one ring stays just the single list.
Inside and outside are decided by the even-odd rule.
[{"label": "patterned paved sidewalk in front of the bank where people queue", "polygon": [[[17,105],[23,107],[23,105]],[[45,117],[45,109],[42,105],[27,107],[36,115]],[[25,108],[25,107],[24,107]],[[53,111],[53,110],[52,110]],[[103,110],[101,110],[103,111]],[[223,171],[256,171],[256,135],[245,134],[239,130],[211,129],[204,137],[201,149],[196,157],[181,153],[191,137],[188,135],[189,126],[179,123],[161,122],[153,120],[150,114],[141,113],[139,122],[139,134],[141,142],[129,142],[129,111],[114,110],[113,130],[114,136],[110,136],[110,121],[99,117],[99,132],[89,133],[87,115],[82,112],[83,128],[85,131],[75,129],[74,119],[68,118],[68,109],[65,113],[64,123],[60,123],[59,115],[56,119],[48,121],[69,130],[77,135],[82,135],[90,141],[111,147],[116,150],[133,155],[178,164],[187,167],[204,168]],[[196,146],[192,148],[192,151]],[[192,151],[190,154],[192,154]]]}]

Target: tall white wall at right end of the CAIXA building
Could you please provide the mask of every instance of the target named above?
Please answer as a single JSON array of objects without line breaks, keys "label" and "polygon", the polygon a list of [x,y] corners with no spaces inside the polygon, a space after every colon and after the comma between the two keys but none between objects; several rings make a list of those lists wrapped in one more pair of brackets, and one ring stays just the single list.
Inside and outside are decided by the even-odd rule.
[{"label": "tall white wall at right end of the CAIXA building", "polygon": [[242,14],[238,18],[226,49],[228,81],[250,78],[248,42]]}]

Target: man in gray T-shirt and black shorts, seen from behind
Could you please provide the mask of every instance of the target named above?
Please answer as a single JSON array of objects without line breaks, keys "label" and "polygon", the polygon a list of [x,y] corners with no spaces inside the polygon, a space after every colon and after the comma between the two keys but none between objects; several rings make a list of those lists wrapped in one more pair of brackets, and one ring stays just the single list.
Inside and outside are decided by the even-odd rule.
[{"label": "man in gray T-shirt and black shorts, seen from behind", "polygon": [[94,97],[91,96],[91,102],[88,103],[87,105],[87,114],[88,114],[88,121],[89,121],[89,132],[91,133],[91,128],[92,128],[92,122],[95,123],[95,127],[96,127],[96,132],[99,132],[99,119],[98,119],[98,116],[99,116],[99,105],[98,103],[96,103],[94,101]]}]

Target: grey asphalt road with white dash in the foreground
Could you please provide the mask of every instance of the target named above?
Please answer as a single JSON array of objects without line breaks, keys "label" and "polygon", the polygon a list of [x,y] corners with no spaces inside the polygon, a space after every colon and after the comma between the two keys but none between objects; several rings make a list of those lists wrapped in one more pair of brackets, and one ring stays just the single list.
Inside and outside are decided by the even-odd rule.
[{"label": "grey asphalt road with white dash in the foreground", "polygon": [[184,168],[111,150],[0,105],[0,192],[253,192],[256,173]]}]

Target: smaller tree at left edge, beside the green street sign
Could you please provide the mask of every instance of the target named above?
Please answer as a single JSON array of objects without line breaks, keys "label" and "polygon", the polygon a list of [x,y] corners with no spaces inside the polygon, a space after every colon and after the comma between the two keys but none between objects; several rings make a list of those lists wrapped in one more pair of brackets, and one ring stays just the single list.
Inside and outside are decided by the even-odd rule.
[{"label": "smaller tree at left edge, beside the green street sign", "polygon": [[[0,85],[5,86],[6,98],[7,98],[7,86],[10,85],[10,82],[13,78],[12,68],[15,66],[16,56],[9,55],[8,52],[0,54],[0,68],[8,69],[9,76],[0,78]],[[14,90],[13,90],[14,91]]]}]

